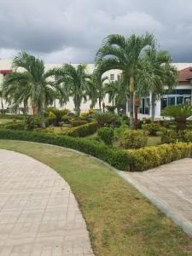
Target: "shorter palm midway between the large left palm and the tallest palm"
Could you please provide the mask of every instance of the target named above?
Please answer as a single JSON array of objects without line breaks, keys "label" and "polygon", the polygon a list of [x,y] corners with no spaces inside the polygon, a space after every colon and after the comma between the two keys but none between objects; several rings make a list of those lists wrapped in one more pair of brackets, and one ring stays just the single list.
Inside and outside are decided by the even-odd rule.
[{"label": "shorter palm midway between the large left palm and the tallest palm", "polygon": [[64,64],[61,68],[55,68],[53,73],[56,84],[63,84],[64,94],[73,97],[74,110],[79,115],[81,103],[83,100],[86,102],[89,90],[90,74],[86,73],[86,66]]}]

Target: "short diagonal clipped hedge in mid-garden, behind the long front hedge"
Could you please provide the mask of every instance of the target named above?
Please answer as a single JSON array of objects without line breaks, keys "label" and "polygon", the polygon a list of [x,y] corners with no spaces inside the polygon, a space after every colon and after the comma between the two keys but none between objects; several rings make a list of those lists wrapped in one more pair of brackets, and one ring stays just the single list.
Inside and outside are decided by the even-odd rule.
[{"label": "short diagonal clipped hedge in mid-garden, behind the long front hedge", "polygon": [[79,125],[77,127],[70,128],[67,131],[62,131],[61,135],[67,135],[70,137],[86,137],[95,133],[97,127],[97,123],[92,122],[85,125]]}]

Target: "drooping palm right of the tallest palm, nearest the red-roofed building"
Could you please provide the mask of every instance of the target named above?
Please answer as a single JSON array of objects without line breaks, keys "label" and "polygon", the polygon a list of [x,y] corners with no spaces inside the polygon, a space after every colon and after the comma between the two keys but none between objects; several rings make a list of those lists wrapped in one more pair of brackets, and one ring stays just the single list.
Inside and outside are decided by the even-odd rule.
[{"label": "drooping palm right of the tallest palm, nearest the red-roofed building", "polygon": [[137,93],[140,96],[148,96],[151,93],[152,122],[156,100],[166,90],[172,90],[176,84],[177,69],[172,66],[172,56],[165,50],[156,49],[155,46],[146,49],[140,72],[137,74]]}]

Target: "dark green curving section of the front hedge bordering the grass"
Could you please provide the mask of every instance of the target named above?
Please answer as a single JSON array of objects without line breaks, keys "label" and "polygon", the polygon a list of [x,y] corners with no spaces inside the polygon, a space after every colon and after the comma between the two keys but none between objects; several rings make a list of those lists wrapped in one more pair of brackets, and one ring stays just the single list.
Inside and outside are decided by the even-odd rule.
[{"label": "dark green curving section of the front hedge bordering the grass", "polygon": [[86,138],[55,136],[44,132],[13,131],[0,129],[0,139],[22,140],[35,143],[48,143],[66,148],[73,148],[108,162],[119,170],[129,166],[127,153],[123,150],[109,148],[104,143],[91,141]]}]

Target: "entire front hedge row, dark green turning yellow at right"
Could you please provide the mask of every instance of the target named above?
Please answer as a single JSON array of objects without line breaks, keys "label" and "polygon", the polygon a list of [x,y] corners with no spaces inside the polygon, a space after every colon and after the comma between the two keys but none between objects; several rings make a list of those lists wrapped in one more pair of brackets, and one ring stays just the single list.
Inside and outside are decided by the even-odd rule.
[{"label": "entire front hedge row, dark green turning yellow at right", "polygon": [[108,162],[124,171],[141,172],[169,163],[173,160],[192,157],[192,143],[163,144],[157,147],[119,150],[86,138],[55,136],[35,131],[13,131],[0,129],[0,139],[48,143],[73,148]]}]

